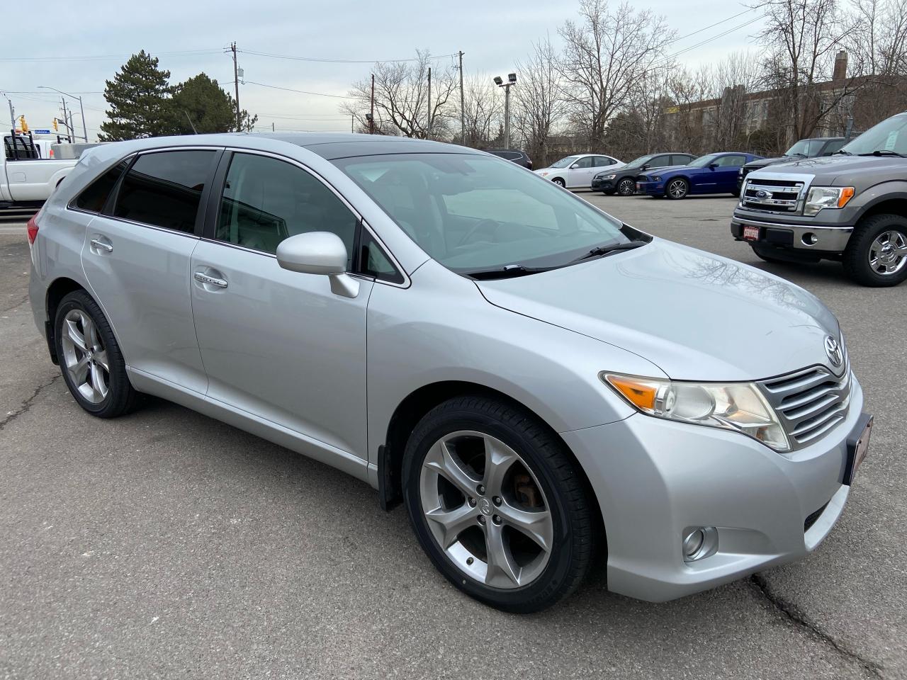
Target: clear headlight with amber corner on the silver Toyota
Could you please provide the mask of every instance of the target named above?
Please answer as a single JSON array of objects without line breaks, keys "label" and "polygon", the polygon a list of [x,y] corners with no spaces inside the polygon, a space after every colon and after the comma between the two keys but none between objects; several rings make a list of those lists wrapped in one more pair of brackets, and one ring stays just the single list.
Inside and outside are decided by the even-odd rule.
[{"label": "clear headlight with amber corner on the silver Toyota", "polygon": [[600,377],[647,415],[736,430],[775,451],[790,451],[784,428],[755,384],[679,383],[610,373],[601,373]]}]

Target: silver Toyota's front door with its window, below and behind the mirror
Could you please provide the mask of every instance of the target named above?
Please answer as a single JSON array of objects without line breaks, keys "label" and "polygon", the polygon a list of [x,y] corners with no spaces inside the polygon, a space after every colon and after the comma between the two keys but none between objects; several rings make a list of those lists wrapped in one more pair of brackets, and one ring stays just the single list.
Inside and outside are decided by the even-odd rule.
[{"label": "silver Toyota's front door with its window, below and behind the mirror", "polygon": [[366,458],[366,306],[328,277],[278,266],[284,238],[332,231],[352,254],[356,215],[288,160],[236,152],[216,219],[192,254],[192,311],[208,396]]}]

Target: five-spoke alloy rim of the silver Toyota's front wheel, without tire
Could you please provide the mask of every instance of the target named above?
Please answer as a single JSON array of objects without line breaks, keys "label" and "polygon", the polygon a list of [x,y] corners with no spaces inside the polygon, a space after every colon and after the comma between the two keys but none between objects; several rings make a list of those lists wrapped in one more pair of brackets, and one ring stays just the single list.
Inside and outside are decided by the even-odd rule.
[{"label": "five-spoke alloy rim of the silver Toyota's front wheel, without tire", "polygon": [[493,588],[526,586],[551,557],[554,524],[519,453],[490,434],[458,431],[425,455],[419,492],[434,540],[466,576]]}]

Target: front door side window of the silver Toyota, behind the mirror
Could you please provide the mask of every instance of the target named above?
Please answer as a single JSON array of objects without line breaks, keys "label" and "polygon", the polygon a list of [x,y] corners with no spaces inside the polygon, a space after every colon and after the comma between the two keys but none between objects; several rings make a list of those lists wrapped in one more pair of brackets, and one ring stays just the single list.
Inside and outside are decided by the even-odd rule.
[{"label": "front door side window of the silver Toyota, behind the mirror", "polygon": [[[352,258],[357,224],[343,201],[305,170],[283,160],[237,153],[220,199],[215,238],[274,254],[285,238],[331,231]],[[347,269],[350,264],[347,259]]]}]

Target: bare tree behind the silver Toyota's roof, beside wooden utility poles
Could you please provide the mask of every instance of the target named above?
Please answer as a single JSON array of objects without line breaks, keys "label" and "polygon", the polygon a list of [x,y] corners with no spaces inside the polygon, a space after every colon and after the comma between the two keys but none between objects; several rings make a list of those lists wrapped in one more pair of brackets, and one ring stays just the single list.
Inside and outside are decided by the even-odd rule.
[{"label": "bare tree behind the silver Toyota's roof, beside wooden utility poles", "polygon": [[[431,102],[428,99],[428,71],[432,68]],[[448,106],[459,83],[453,64],[434,64],[428,52],[416,52],[413,62],[375,63],[375,126],[385,133],[405,137],[444,139],[449,135],[453,110]],[[367,128],[370,110],[371,78],[353,85],[351,102],[340,111],[356,117]]]}]

